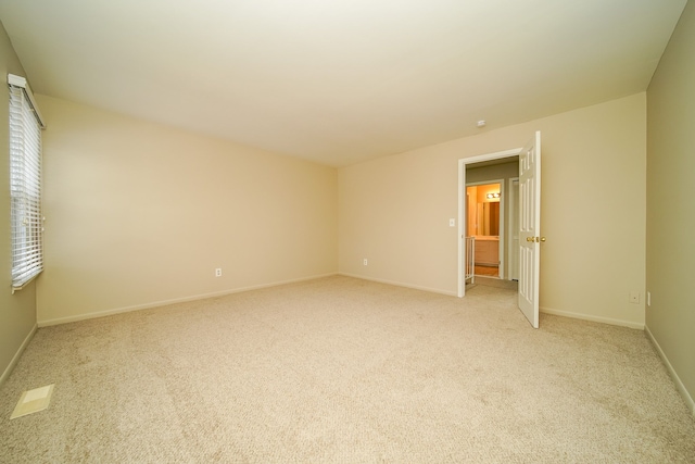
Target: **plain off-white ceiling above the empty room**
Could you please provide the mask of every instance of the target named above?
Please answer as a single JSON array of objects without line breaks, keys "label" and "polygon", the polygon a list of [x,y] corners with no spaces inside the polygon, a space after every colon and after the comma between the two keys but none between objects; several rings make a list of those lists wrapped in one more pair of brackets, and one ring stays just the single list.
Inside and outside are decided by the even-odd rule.
[{"label": "plain off-white ceiling above the empty room", "polygon": [[644,91],[685,2],[1,0],[0,20],[37,93],[343,166]]}]

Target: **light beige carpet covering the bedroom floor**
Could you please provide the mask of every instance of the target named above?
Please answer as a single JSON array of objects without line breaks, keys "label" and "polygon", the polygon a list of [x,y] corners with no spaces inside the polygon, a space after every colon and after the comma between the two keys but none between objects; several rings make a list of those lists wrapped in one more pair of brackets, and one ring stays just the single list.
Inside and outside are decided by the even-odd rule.
[{"label": "light beige carpet covering the bedroom floor", "polygon": [[0,462],[695,461],[644,333],[533,330],[515,300],[336,276],[41,328],[0,389]]}]

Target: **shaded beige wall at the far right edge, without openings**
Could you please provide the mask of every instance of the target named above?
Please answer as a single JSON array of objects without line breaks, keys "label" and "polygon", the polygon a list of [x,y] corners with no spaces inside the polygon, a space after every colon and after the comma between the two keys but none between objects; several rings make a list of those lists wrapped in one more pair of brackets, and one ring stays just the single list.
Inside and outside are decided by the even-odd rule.
[{"label": "shaded beige wall at the far right edge, without openings", "polygon": [[646,326],[695,414],[695,4],[647,91]]}]

